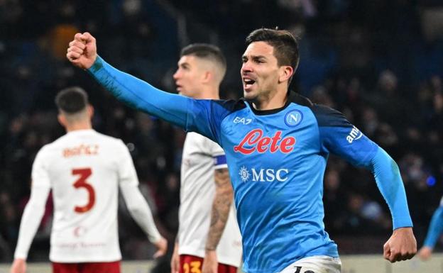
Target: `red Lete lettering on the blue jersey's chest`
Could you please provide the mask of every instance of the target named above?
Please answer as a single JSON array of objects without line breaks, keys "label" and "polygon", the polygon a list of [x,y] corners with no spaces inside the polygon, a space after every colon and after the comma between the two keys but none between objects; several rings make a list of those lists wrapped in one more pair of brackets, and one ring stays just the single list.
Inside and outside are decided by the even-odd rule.
[{"label": "red Lete lettering on the blue jersey's chest", "polygon": [[282,138],[282,131],[278,130],[272,137],[263,136],[263,130],[254,129],[246,134],[239,145],[234,146],[234,152],[240,152],[244,155],[250,155],[257,151],[266,152],[283,152],[288,153],[294,150],[295,138],[287,136]]}]

